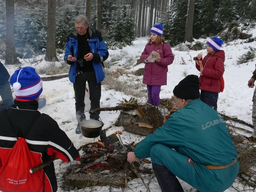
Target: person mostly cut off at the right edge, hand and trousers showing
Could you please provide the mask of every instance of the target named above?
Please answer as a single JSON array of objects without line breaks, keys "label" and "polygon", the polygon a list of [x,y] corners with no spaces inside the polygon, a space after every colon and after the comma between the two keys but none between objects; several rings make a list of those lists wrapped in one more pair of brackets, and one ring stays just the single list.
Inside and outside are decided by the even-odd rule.
[{"label": "person mostly cut off at the right edge, hand and trousers showing", "polygon": [[[256,64],[255,64],[255,68],[256,68]],[[253,71],[252,74],[253,74],[252,78],[248,81],[248,87],[249,88],[254,87],[254,82],[255,82],[255,79],[256,79],[256,69]],[[253,104],[252,104],[252,124],[253,124],[254,131],[252,133],[252,136],[249,137],[249,140],[251,142],[256,143],[256,88],[255,88],[254,93],[253,93],[252,102],[253,102]]]}]

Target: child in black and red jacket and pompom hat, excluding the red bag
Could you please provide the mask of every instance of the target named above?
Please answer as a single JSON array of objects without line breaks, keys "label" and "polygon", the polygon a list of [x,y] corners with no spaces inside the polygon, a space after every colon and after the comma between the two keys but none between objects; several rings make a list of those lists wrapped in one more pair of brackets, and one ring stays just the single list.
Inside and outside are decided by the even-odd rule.
[{"label": "child in black and red jacket and pompom hat, excluding the red bag", "polygon": [[[10,83],[14,87],[16,98],[10,109],[0,112],[0,169],[16,143],[16,134],[18,137],[24,137],[35,118],[37,120],[25,139],[34,158],[39,158],[37,161],[45,162],[54,155],[64,162],[80,159],[78,150],[57,122],[37,110],[39,95],[42,93],[42,80],[35,69],[23,67],[16,70]],[[43,174],[44,181],[41,185],[44,185],[44,191],[56,192],[54,164],[44,167]]]}]

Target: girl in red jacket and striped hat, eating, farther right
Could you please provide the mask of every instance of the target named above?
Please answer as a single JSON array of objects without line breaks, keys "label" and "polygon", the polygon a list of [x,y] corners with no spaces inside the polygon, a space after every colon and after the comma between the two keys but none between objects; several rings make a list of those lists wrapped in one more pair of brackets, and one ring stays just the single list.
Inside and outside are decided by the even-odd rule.
[{"label": "girl in red jacket and striped hat, eating, farther right", "polygon": [[215,110],[217,110],[218,96],[221,92],[221,78],[225,71],[225,52],[219,50],[222,44],[222,39],[213,37],[207,41],[207,55],[203,58],[203,54],[199,53],[196,57],[196,68],[200,71],[200,99]]}]

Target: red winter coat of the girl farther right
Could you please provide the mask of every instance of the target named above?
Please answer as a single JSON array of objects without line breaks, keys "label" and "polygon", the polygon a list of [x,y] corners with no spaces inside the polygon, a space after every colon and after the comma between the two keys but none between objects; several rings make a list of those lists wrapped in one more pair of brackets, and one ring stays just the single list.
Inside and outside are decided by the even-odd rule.
[{"label": "red winter coat of the girl farther right", "polygon": [[[200,90],[219,93],[221,91],[221,77],[224,69],[225,52],[219,52],[211,55],[208,53],[203,59],[203,75],[200,75]],[[196,68],[200,71],[200,66],[196,64]]]}]

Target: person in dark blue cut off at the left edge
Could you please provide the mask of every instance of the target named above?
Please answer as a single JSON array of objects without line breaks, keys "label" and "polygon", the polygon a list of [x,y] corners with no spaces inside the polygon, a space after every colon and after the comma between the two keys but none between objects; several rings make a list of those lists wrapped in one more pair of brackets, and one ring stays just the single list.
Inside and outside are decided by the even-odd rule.
[{"label": "person in dark blue cut off at the left edge", "polygon": [[4,105],[9,109],[13,104],[12,91],[9,84],[10,75],[4,65],[0,62],[0,96]]}]

